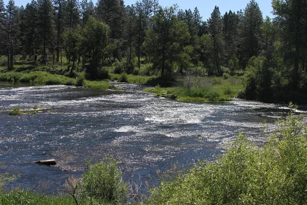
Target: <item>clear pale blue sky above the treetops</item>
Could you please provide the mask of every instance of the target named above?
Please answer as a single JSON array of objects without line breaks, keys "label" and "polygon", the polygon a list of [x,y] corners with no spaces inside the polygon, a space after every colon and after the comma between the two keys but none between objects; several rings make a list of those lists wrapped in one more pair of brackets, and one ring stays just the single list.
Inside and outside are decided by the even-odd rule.
[{"label": "clear pale blue sky above the treetops", "polygon": [[[7,4],[9,0],[4,0],[4,3]],[[97,0],[92,0],[94,4],[96,4]],[[125,0],[125,5],[135,4],[137,0]],[[16,6],[26,6],[27,3],[31,2],[31,0],[15,0]],[[203,16],[203,20],[207,20],[212,13],[214,6],[220,7],[221,14],[223,15],[226,11],[238,11],[240,9],[244,10],[246,5],[250,2],[250,0],[165,0],[159,1],[159,4],[163,7],[169,7],[173,4],[177,4],[179,8],[191,9],[193,10],[197,7]],[[260,10],[262,11],[262,15],[264,18],[268,15],[273,17],[271,14],[272,7],[270,0],[256,0],[259,5]]]}]

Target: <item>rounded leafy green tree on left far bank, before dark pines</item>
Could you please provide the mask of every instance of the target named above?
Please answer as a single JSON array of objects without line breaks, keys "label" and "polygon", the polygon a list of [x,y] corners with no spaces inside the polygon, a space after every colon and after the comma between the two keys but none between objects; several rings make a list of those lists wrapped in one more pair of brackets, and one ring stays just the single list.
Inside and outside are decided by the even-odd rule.
[{"label": "rounded leafy green tree on left far bank, before dark pines", "polygon": [[98,74],[98,69],[105,58],[104,53],[108,44],[108,33],[108,26],[93,17],[90,17],[84,27],[83,48],[91,59],[91,67],[86,69],[86,72],[91,74],[92,78],[95,78]]}]

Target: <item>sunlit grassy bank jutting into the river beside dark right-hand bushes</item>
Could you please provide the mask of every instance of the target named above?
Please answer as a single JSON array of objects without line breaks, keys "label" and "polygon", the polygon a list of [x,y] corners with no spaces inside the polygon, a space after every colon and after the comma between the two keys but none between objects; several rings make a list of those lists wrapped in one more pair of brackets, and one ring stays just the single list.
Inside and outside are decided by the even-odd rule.
[{"label": "sunlit grassy bank jutting into the river beside dark right-hand bushes", "polygon": [[155,93],[157,96],[179,99],[182,101],[228,101],[236,97],[243,86],[238,77],[200,77],[200,86],[187,86],[144,89],[146,92]]}]

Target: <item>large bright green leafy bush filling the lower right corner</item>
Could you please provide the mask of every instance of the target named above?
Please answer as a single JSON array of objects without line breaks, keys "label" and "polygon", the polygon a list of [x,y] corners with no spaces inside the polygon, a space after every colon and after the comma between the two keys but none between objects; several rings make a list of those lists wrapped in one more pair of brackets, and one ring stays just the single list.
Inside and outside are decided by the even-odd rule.
[{"label": "large bright green leafy bush filling the lower right corner", "polygon": [[258,148],[239,134],[228,151],[150,190],[149,204],[306,204],[307,128],[300,117]]}]

